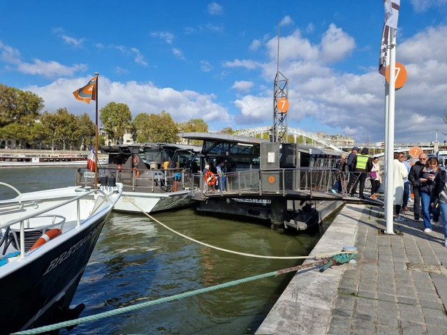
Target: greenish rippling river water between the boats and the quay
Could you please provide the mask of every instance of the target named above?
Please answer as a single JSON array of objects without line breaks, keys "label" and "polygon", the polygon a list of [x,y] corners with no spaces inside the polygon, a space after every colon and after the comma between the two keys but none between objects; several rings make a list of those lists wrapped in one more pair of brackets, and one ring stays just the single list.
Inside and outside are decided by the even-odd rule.
[{"label": "greenish rippling river water between the boats and the quay", "polygon": [[[73,168],[1,168],[19,191],[72,186]],[[9,194],[10,195],[10,194]],[[0,198],[8,194],[0,188]],[[328,223],[309,233],[278,232],[265,223],[179,209],[156,220],[219,248],[258,255],[308,255]],[[72,306],[81,317],[300,265],[302,260],[249,258],[193,243],[143,214],[112,212]],[[77,334],[254,334],[293,273],[137,309],[76,326]],[[68,334],[65,329],[59,334]]]}]

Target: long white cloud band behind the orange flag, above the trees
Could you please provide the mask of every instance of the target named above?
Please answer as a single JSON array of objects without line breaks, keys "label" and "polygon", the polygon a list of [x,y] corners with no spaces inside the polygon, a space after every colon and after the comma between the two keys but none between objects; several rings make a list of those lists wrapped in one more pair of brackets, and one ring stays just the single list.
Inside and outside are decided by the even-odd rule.
[{"label": "long white cloud band behind the orange flag, above the trees", "polygon": [[[54,112],[59,107],[67,107],[74,114],[87,112],[94,119],[94,105],[82,103],[73,97],[72,92],[83,87],[91,79],[87,77],[67,80],[59,79],[44,87],[25,87],[33,91],[45,101],[45,110]],[[230,115],[226,108],[216,102],[214,94],[199,94],[195,91],[176,91],[166,87],[155,87],[152,82],[110,82],[101,76],[98,79],[98,107],[107,103],[126,103],[129,105],[133,117],[140,113],[169,112],[176,122],[189,119],[204,119],[208,123],[215,122],[219,126],[230,122]],[[220,129],[220,128],[219,128]]]}]

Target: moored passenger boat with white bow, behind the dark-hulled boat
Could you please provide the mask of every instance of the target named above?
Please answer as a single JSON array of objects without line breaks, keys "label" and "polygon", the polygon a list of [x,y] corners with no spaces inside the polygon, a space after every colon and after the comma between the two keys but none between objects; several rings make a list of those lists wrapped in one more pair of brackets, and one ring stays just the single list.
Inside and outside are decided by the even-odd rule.
[{"label": "moored passenger boat with white bow, behind the dark-hulled boat", "polygon": [[[108,154],[108,166],[98,168],[99,183],[108,184],[112,179],[123,184],[123,196],[115,204],[115,211],[154,213],[194,203],[191,190],[201,147],[150,143],[100,149]],[[76,184],[94,186],[94,173],[78,169]]]}]

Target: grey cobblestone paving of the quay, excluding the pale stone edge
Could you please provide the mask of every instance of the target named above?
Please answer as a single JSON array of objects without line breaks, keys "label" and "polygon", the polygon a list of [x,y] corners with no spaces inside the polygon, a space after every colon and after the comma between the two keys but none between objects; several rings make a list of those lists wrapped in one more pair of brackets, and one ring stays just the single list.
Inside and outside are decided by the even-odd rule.
[{"label": "grey cobblestone paving of the quay, excluding the pale stone edge", "polygon": [[[366,207],[358,222],[357,264],[339,283],[329,334],[447,334],[447,248],[438,224],[406,212],[386,228],[383,209]],[[348,322],[349,321],[349,322]]]}]

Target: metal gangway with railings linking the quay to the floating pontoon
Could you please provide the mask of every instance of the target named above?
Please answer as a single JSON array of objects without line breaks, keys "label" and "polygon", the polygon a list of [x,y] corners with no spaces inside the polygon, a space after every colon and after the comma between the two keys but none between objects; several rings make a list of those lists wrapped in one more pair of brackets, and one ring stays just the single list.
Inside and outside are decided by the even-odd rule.
[{"label": "metal gangway with railings linking the quay to the floating pontoon", "polygon": [[[286,198],[295,200],[344,200],[359,202],[352,198],[351,188],[359,174],[356,172],[339,172],[334,168],[281,168],[268,170],[244,170],[228,172],[225,179],[217,177],[217,184],[224,182],[224,191],[219,186],[206,183],[202,174],[194,176],[195,185],[192,195],[195,200],[207,200],[217,197],[226,198]],[[220,180],[219,180],[220,179]],[[336,181],[341,183],[342,191],[332,191]],[[365,190],[370,188],[369,179]],[[366,199],[362,202],[377,204],[377,200]]]}]

